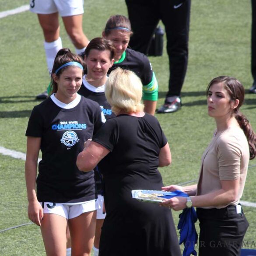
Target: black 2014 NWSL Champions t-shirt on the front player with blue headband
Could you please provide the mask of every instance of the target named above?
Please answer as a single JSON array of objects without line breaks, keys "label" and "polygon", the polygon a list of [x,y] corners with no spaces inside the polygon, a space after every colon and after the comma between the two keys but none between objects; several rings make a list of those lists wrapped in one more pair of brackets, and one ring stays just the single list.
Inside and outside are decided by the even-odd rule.
[{"label": "black 2014 NWSL Champions t-shirt on the front player with blue headband", "polygon": [[60,108],[51,98],[34,107],[26,136],[42,138],[36,179],[39,202],[76,203],[96,198],[94,172],[79,171],[76,160],[84,142],[100,126],[100,106],[84,97],[72,109]]}]

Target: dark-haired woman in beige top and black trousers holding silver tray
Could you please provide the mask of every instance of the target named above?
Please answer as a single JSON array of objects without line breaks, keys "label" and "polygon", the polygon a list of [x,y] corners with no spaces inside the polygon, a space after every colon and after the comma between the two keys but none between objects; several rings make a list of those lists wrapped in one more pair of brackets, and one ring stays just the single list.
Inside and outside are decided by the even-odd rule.
[{"label": "dark-haired woman in beige top and black trousers holding silver tray", "polygon": [[233,77],[216,77],[207,88],[208,115],[217,130],[204,151],[197,185],[170,185],[190,197],[162,203],[174,210],[197,207],[200,221],[199,256],[239,256],[249,226],[239,200],[245,186],[249,159],[256,155],[256,134],[239,111],[244,101],[242,84]]}]

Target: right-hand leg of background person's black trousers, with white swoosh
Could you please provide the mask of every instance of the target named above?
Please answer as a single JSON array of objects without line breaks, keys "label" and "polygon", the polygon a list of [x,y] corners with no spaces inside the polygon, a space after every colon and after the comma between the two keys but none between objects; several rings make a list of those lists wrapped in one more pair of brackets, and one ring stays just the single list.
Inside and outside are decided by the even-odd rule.
[{"label": "right-hand leg of background person's black trousers, with white swoosh", "polygon": [[[177,2],[176,4],[174,4]],[[179,3],[180,2],[180,3]],[[161,20],[165,25],[170,79],[168,97],[180,97],[188,65],[190,0],[161,0]],[[180,5],[181,4],[181,5]],[[180,6],[179,6],[180,5]]]}]

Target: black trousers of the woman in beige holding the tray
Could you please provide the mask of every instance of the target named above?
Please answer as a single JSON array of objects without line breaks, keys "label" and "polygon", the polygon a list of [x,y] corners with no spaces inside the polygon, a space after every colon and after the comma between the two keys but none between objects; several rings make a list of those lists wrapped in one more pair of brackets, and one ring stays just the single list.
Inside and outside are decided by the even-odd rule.
[{"label": "black trousers of the woman in beige holding the tray", "polygon": [[248,221],[235,206],[222,209],[196,209],[200,221],[199,256],[240,256]]}]

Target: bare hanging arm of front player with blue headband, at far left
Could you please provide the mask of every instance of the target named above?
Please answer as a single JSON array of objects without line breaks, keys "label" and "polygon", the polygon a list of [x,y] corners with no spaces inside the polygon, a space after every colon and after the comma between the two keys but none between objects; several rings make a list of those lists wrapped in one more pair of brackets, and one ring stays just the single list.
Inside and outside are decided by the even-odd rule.
[{"label": "bare hanging arm of front player with blue headband, at far left", "polygon": [[28,194],[28,217],[37,225],[41,225],[43,218],[42,207],[37,200],[35,192],[35,180],[37,175],[37,161],[39,156],[41,138],[28,137],[27,155],[25,162],[25,179]]}]

